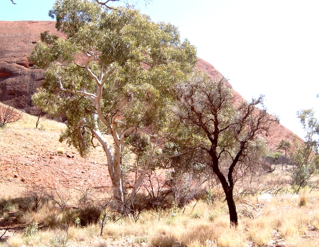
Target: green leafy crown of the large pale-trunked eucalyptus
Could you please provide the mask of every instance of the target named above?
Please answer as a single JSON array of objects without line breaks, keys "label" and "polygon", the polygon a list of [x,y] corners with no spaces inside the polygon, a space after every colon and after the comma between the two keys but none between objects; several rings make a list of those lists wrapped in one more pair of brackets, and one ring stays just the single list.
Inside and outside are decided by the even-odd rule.
[{"label": "green leafy crown of the large pale-trunked eucalyptus", "polygon": [[[127,125],[154,130],[167,125],[166,106],[172,104],[169,88],[191,72],[197,61],[194,47],[187,40],[180,41],[176,27],[151,22],[137,10],[114,11],[83,0],[56,1],[50,16],[68,39],[42,34],[29,58],[47,68],[46,81],[32,100],[51,115],[66,114],[68,130],[61,140],[67,139],[84,154],[91,146],[91,134],[75,126],[84,118],[88,129],[95,128],[94,106],[80,91],[94,94],[96,82],[73,62],[78,51],[99,51],[96,60],[89,62],[93,73],[114,70],[103,81],[100,101],[107,122],[119,103],[129,99],[122,111]],[[67,89],[64,93],[60,82]]]}]

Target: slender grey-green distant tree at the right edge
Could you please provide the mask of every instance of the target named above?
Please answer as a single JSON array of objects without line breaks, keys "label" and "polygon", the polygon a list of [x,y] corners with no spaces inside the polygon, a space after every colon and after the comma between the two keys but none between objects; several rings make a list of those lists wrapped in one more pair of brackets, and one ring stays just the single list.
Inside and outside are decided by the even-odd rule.
[{"label": "slender grey-green distant tree at the right edge", "polygon": [[315,117],[313,109],[297,111],[304,130],[305,142],[295,141],[295,150],[291,152],[292,165],[292,188],[298,193],[300,189],[310,186],[313,187],[311,178],[316,170],[319,169],[318,135],[319,121]]}]

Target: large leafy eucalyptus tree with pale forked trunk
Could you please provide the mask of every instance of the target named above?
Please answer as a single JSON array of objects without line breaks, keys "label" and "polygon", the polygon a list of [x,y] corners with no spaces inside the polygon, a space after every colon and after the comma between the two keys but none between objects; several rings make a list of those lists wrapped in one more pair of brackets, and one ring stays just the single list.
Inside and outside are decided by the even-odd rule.
[{"label": "large leafy eucalyptus tree with pale forked trunk", "polygon": [[[177,148],[165,148],[176,145],[178,133],[168,110],[174,102],[172,86],[193,71],[197,57],[173,25],[101,2],[55,2],[49,15],[67,36],[41,34],[30,59],[46,69],[45,82],[32,99],[49,114],[66,116],[60,140],[82,155],[96,143],[103,147],[114,197],[132,210],[153,162],[178,155]],[[127,162],[124,148],[138,152],[141,139],[143,155],[136,157],[143,159]],[[124,172],[133,168],[133,189],[126,196]]]}]

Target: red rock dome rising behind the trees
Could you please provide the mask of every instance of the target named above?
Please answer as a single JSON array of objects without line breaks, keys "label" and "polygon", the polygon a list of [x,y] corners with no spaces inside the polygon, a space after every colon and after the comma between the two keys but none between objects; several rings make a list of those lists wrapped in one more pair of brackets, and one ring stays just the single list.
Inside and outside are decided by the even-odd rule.
[{"label": "red rock dome rising behind the trees", "polygon": [[[54,35],[62,36],[56,31],[55,22],[50,21],[0,21],[0,102],[27,113],[37,114],[32,105],[31,95],[44,80],[44,72],[33,68],[27,56],[40,39],[40,33],[49,30]],[[197,68],[205,71],[212,79],[222,77],[213,65],[198,60]],[[234,91],[234,97],[241,101],[242,96]],[[267,137],[268,146],[275,150],[281,139],[293,141],[293,133],[281,124],[273,124]]]}]

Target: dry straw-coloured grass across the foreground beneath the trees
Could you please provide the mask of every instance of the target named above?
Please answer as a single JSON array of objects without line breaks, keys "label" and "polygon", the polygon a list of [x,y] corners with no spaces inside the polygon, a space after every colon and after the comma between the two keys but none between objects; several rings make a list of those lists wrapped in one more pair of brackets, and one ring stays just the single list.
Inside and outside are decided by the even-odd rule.
[{"label": "dry straw-coloured grass across the foreground beneath the trees", "polygon": [[[167,211],[160,220],[152,211],[144,212],[137,223],[130,218],[116,222],[109,220],[102,237],[99,236],[100,224],[76,227],[70,223],[76,214],[53,210],[49,203],[38,213],[24,213],[26,224],[36,221],[42,227],[38,233],[34,236],[15,234],[0,246],[52,246],[54,241],[63,238],[71,247],[87,246],[89,243],[94,247],[132,246],[142,242],[159,247],[264,247],[280,242],[286,247],[318,246],[319,193],[311,192],[302,196],[306,196],[308,203],[301,207],[298,203],[301,196],[282,194],[273,197],[263,205],[263,213],[255,219],[241,215],[237,229],[229,227],[225,202],[208,205],[198,201],[186,206],[184,211],[175,216],[172,211]],[[254,204],[253,201],[257,200],[256,197],[246,198],[246,203]],[[11,205],[11,209],[14,208]],[[201,217],[194,217],[194,212]],[[210,219],[212,213],[215,213],[213,221]],[[66,217],[70,218],[69,224],[64,219]]]}]

